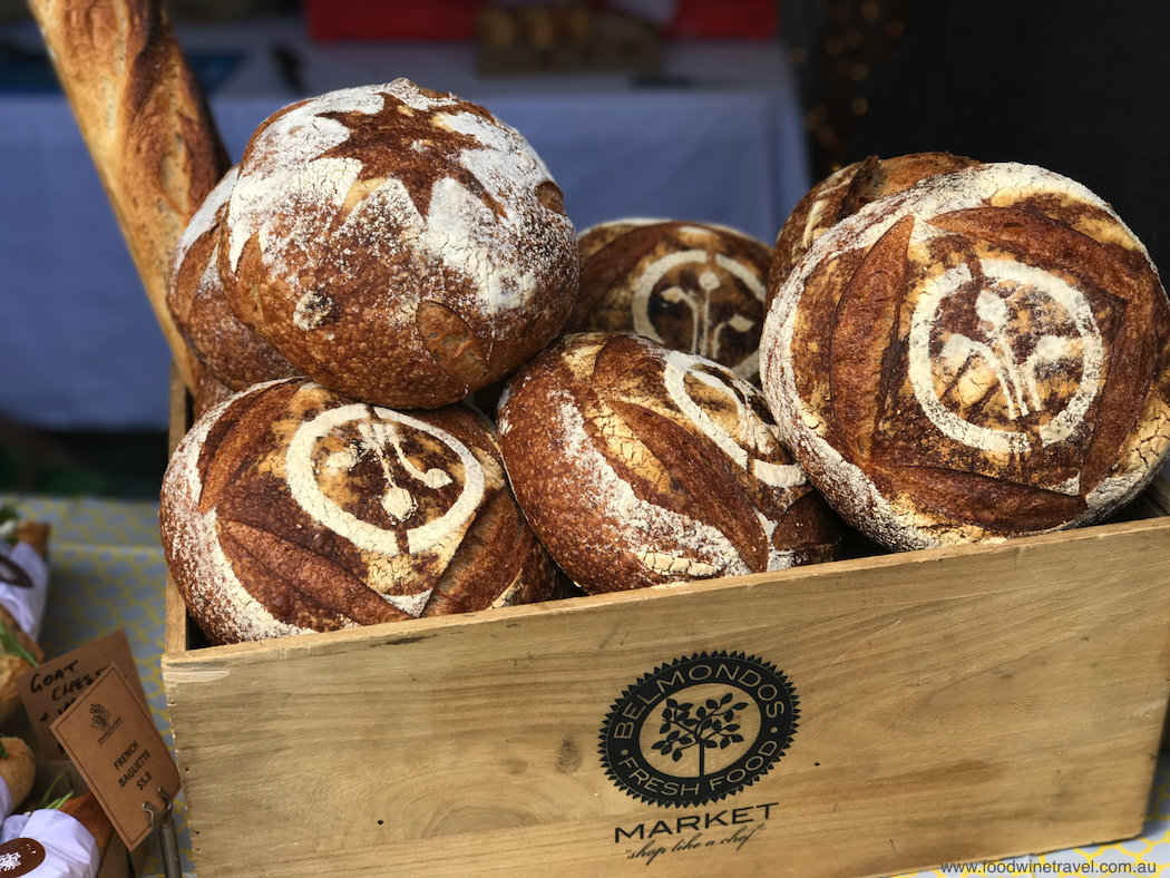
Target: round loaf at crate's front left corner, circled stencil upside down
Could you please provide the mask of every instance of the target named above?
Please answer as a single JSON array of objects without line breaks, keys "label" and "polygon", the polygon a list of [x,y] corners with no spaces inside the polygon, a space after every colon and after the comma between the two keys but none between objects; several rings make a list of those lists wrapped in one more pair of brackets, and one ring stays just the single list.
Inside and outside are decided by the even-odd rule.
[{"label": "round loaf at crate's front left corner, circled stencil upside down", "polygon": [[395,412],[303,379],[195,423],[163,481],[167,565],[216,644],[559,597],[464,405]]}]

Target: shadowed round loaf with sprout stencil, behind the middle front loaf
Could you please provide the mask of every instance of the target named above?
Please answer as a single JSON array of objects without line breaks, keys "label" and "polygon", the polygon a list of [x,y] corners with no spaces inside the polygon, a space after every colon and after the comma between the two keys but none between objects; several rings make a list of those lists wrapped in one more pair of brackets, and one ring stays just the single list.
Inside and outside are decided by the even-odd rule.
[{"label": "shadowed round loaf with sprout stencil, behind the middle front loaf", "polygon": [[758,380],[771,247],[721,226],[631,219],[593,226],[578,251],[566,332],[636,332]]}]

